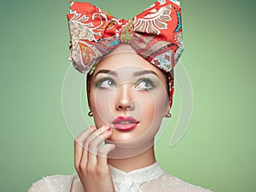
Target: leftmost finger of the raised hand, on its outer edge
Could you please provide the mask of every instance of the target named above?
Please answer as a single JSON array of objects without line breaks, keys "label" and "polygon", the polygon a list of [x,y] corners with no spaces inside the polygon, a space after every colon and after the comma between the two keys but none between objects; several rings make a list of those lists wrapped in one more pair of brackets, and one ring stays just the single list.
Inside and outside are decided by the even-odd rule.
[{"label": "leftmost finger of the raised hand, on its outer edge", "polygon": [[79,163],[84,151],[84,139],[95,130],[95,126],[90,126],[90,129],[83,131],[79,137],[74,140],[74,165],[76,169],[79,169]]}]

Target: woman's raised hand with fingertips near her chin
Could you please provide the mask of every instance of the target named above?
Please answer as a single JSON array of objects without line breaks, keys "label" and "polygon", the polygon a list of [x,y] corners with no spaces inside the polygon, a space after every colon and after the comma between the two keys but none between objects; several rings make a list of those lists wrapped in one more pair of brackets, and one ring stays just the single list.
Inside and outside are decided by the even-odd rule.
[{"label": "woman's raised hand with fingertips near her chin", "polygon": [[74,140],[75,168],[84,192],[113,192],[113,181],[107,158],[114,145],[106,144],[98,148],[104,139],[112,135],[112,131],[109,125],[95,130],[96,127],[92,126]]}]

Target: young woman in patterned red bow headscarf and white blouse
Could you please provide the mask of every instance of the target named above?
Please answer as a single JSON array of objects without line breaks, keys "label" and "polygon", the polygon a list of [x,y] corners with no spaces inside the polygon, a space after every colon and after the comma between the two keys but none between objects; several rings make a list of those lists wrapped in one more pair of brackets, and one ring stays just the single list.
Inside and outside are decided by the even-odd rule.
[{"label": "young woman in patterned red bow headscarf and white blouse", "polygon": [[156,2],[133,20],[117,20],[90,3],[71,2],[67,17],[71,60],[87,74],[95,125],[74,141],[77,172],[43,177],[29,191],[207,191],[172,177],[154,156],[183,52],[179,3]]}]

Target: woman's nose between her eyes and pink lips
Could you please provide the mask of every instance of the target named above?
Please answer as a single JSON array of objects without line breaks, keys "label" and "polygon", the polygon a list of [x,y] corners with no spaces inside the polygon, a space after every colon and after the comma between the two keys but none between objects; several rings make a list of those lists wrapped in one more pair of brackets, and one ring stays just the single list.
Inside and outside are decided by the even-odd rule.
[{"label": "woman's nose between her eyes and pink lips", "polygon": [[116,110],[131,111],[135,108],[135,102],[132,98],[131,84],[121,84],[119,86],[116,100]]}]

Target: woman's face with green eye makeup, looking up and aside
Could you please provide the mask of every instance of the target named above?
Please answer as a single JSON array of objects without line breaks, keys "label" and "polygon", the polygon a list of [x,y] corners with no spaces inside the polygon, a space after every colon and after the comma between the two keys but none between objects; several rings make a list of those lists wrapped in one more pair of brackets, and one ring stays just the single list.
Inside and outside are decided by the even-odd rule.
[{"label": "woman's face with green eye makeup, looking up and aside", "polygon": [[96,127],[109,124],[112,142],[154,141],[169,110],[166,76],[128,44],[100,61],[90,80]]}]

